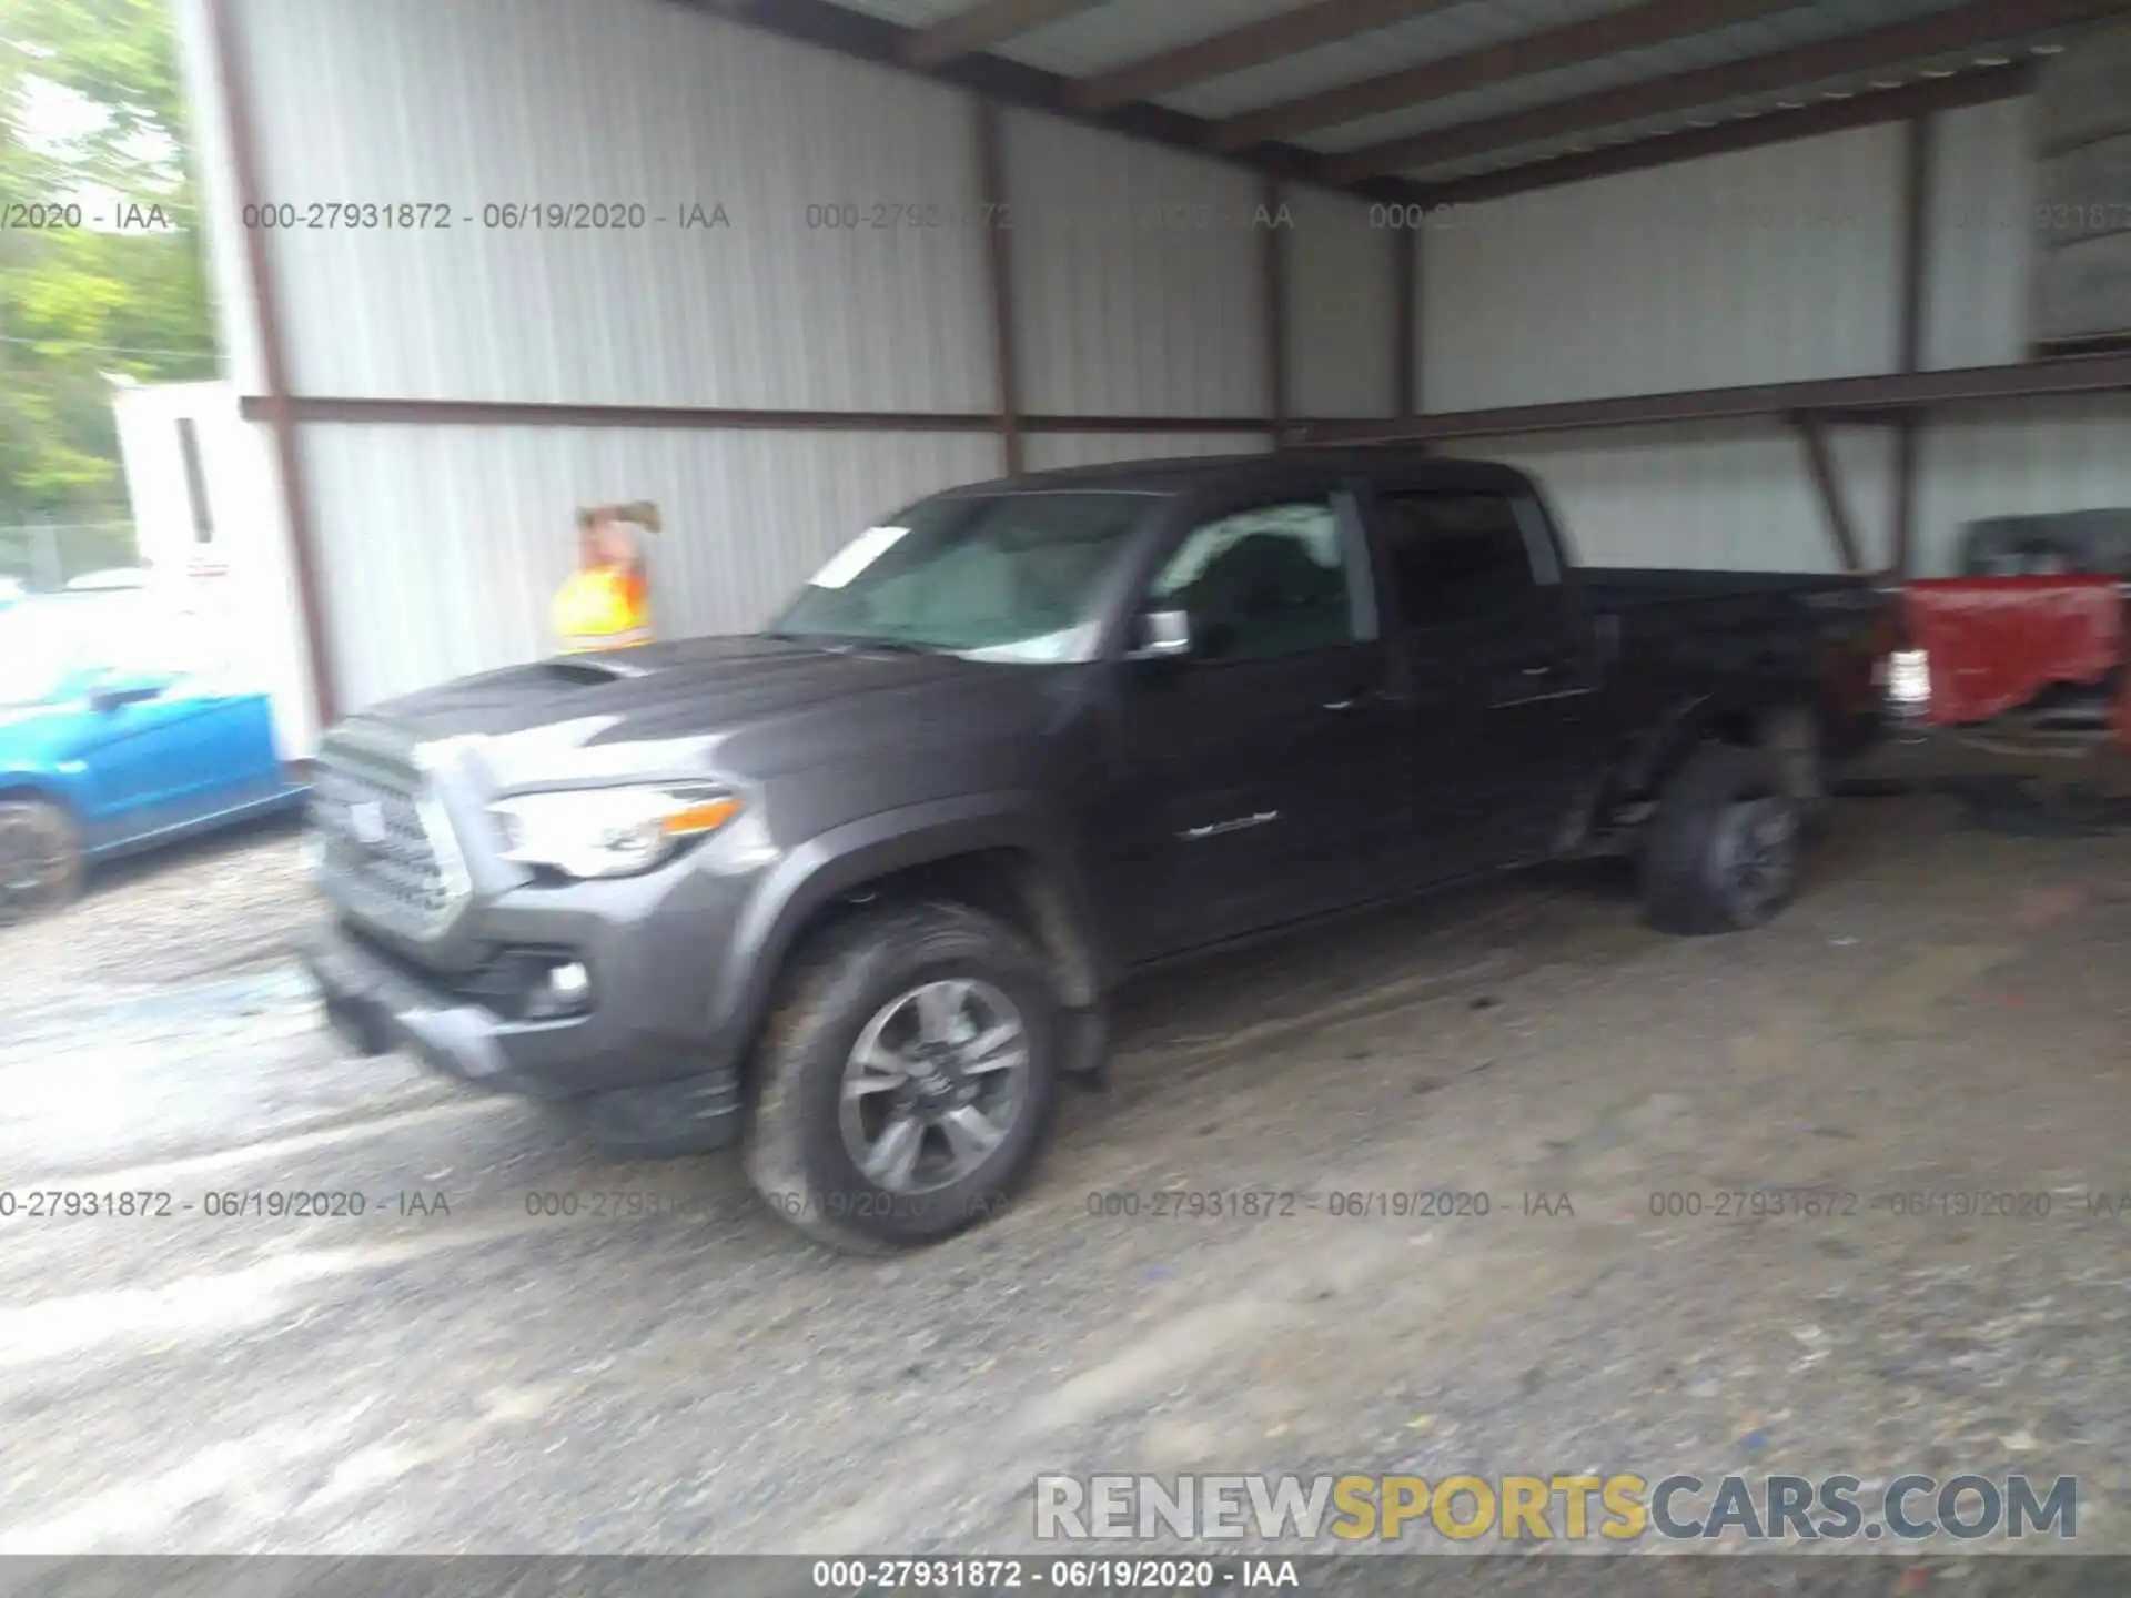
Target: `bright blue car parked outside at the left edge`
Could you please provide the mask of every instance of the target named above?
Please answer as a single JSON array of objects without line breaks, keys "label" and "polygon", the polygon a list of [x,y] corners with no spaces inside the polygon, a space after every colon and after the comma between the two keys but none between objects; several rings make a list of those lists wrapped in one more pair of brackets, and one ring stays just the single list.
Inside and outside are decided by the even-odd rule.
[{"label": "bright blue car parked outside at the left edge", "polygon": [[0,603],[0,925],[64,903],[83,869],[290,810],[264,692],[160,594]]}]

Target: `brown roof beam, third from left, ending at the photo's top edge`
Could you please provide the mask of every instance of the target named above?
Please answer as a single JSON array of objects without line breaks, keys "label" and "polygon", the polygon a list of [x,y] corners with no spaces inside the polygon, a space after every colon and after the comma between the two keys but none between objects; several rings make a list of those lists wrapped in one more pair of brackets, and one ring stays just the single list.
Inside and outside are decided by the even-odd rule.
[{"label": "brown roof beam, third from left, ending at the photo's top edge", "polygon": [[1291,138],[1317,128],[1338,128],[1385,111],[1441,100],[1490,83],[1556,72],[1564,66],[1598,62],[1630,49],[1649,49],[1690,38],[1711,28],[1754,21],[1775,11],[1794,11],[1809,0],[1645,0],[1626,11],[1585,17],[1566,28],[1504,38],[1498,45],[1449,55],[1398,72],[1343,83],[1319,94],[1245,111],[1215,124],[1213,149],[1249,149],[1268,138]]}]

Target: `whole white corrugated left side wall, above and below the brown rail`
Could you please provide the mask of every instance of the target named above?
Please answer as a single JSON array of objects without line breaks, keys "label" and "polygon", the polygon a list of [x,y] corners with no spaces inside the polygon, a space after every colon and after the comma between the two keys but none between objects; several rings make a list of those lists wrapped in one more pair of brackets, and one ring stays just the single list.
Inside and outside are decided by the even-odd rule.
[{"label": "whole white corrugated left side wall, above and below the brown rail", "polygon": [[[298,392],[995,409],[965,94],[658,0],[232,9],[269,200],[300,222],[332,200],[450,217],[269,237]],[[219,132],[200,0],[181,15]],[[1268,413],[1257,181],[1040,117],[1002,132],[1023,409]],[[258,394],[226,151],[209,136],[200,156],[232,375]],[[488,207],[571,200],[641,205],[648,226],[488,226]],[[682,228],[686,207],[727,226]],[[1298,256],[1332,296],[1311,290],[1298,381],[1351,405],[1374,381],[1366,271],[1353,241]],[[349,707],[543,652],[575,505],[658,501],[661,631],[733,631],[869,520],[1002,462],[987,433],[891,430],[305,424],[303,447]],[[1027,439],[1034,467],[1259,447]]]}]

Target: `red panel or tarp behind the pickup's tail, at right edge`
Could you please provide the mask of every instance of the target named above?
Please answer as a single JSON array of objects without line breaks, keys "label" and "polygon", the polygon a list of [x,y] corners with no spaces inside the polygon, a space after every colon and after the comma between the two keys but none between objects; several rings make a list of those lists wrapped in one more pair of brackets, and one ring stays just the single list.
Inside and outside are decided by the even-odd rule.
[{"label": "red panel or tarp behind the pickup's tail, at right edge", "polygon": [[2122,658],[2118,577],[1939,577],[1909,584],[1909,643],[1931,667],[1931,720],[1980,722],[2052,682],[2095,682]]}]

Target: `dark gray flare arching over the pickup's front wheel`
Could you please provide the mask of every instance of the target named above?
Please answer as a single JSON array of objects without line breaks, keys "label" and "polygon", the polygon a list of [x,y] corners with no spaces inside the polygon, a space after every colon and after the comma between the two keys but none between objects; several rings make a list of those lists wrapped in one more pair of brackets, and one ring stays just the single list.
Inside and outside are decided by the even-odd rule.
[{"label": "dark gray flare arching over the pickup's front wheel", "polygon": [[1085,948],[1093,918],[1070,831],[1034,793],[987,793],[882,810],[788,850],[748,897],[712,991],[712,1029],[744,1048],[767,1021],[778,976],[808,920],[837,895],[914,865],[1016,850],[1063,895]]}]

